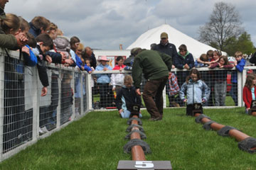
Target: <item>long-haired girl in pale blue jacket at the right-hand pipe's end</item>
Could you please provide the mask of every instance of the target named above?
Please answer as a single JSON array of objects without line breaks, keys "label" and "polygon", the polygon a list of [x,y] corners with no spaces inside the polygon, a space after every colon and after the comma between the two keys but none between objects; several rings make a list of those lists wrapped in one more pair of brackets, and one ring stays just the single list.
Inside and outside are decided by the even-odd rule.
[{"label": "long-haired girl in pale blue jacket at the right-hand pipe's end", "polygon": [[[187,103],[186,115],[193,115],[194,103],[205,103],[208,100],[210,89],[201,80],[201,75],[197,69],[191,69],[186,82],[181,86],[179,96],[181,101]],[[203,113],[203,108],[201,108],[201,113]]]}]

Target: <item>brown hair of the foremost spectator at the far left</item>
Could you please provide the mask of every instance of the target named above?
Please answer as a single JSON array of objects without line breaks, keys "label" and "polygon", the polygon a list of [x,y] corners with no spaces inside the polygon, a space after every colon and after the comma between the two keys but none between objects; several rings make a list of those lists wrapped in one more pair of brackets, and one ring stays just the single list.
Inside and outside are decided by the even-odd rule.
[{"label": "brown hair of the foremost spectator at the far left", "polygon": [[21,28],[21,20],[13,13],[6,13],[6,18],[1,20],[1,28],[6,34],[9,34],[11,29],[16,33]]}]

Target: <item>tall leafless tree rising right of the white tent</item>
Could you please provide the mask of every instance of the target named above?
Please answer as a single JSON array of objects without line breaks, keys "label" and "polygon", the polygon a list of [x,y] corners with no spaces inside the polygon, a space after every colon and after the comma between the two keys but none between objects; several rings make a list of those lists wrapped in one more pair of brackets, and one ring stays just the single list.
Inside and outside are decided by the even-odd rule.
[{"label": "tall leafless tree rising right of the white tent", "polygon": [[199,28],[199,40],[208,45],[215,45],[219,50],[225,49],[225,42],[238,38],[243,32],[240,15],[232,4],[215,3],[210,21]]}]

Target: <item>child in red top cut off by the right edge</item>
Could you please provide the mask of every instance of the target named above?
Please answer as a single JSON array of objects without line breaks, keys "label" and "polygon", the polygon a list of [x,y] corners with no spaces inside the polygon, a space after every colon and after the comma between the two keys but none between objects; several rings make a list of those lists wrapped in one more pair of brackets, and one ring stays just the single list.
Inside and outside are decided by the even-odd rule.
[{"label": "child in red top cut off by the right edge", "polygon": [[248,113],[252,101],[255,101],[256,96],[256,74],[248,74],[245,81],[245,86],[242,89],[242,100],[245,102],[245,113]]}]

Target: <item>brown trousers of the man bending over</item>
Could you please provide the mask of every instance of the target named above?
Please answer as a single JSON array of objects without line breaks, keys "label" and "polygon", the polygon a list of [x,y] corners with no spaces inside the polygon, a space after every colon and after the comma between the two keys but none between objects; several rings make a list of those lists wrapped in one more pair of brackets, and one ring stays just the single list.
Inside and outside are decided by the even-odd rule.
[{"label": "brown trousers of the man bending over", "polygon": [[[146,81],[143,91],[143,100],[146,110],[151,118],[159,118],[163,116],[163,90],[168,77]],[[154,101],[155,98],[155,101]]]}]

